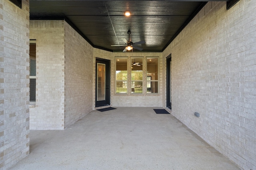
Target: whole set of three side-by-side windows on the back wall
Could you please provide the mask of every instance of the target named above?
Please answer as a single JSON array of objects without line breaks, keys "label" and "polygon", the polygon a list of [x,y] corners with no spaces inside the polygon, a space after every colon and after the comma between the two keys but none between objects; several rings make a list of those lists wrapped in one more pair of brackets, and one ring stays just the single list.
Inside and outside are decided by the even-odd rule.
[{"label": "whole set of three side-by-side windows on the back wall", "polygon": [[158,94],[158,69],[158,57],[116,57],[116,94]]}]

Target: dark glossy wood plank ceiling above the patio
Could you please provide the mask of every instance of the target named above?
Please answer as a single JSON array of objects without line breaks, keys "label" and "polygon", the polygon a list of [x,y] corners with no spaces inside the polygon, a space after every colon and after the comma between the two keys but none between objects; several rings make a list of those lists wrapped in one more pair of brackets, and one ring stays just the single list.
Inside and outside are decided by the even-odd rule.
[{"label": "dark glossy wood plank ceiling above the patio", "polygon": [[[204,0],[202,0],[204,1]],[[219,0],[228,1],[228,0]],[[124,50],[123,38],[142,52],[162,52],[207,2],[181,0],[30,0],[30,20],[66,20],[93,47]],[[129,10],[131,16],[124,16]],[[134,52],[139,50],[134,49]]]}]

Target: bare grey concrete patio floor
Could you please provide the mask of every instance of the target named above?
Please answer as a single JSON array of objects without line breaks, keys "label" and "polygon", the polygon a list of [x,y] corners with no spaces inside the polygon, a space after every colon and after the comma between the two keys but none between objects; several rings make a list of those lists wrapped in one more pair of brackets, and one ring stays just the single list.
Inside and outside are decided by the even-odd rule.
[{"label": "bare grey concrete patio floor", "polygon": [[236,170],[160,107],[91,111],[65,130],[31,130],[30,154],[10,170]]}]

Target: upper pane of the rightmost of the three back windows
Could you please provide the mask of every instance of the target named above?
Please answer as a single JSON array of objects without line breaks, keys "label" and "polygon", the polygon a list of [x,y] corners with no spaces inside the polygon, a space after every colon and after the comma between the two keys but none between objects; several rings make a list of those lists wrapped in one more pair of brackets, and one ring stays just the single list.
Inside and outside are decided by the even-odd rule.
[{"label": "upper pane of the rightmost of the three back windows", "polygon": [[147,77],[158,80],[158,58],[147,58]]}]

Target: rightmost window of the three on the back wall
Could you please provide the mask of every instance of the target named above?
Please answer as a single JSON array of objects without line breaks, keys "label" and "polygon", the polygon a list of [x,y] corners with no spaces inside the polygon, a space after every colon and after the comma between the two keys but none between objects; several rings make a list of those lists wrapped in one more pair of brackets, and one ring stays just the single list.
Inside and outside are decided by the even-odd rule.
[{"label": "rightmost window of the three on the back wall", "polygon": [[158,93],[158,58],[147,57],[147,93]]}]

